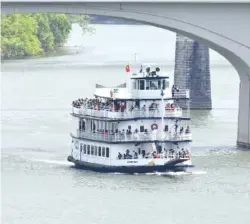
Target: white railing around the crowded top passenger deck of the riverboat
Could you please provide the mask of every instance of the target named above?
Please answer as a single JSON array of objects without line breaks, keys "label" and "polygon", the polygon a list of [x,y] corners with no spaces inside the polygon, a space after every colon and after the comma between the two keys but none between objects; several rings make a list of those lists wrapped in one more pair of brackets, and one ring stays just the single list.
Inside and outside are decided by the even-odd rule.
[{"label": "white railing around the crowded top passenger deck of the riverboat", "polygon": [[[161,117],[162,114],[159,110],[136,110],[126,111],[126,112],[116,112],[108,110],[93,110],[86,108],[75,108],[73,107],[73,113],[80,115],[87,115],[93,117],[105,117],[113,119],[129,119],[129,118],[150,118],[150,117]],[[165,117],[182,117],[183,111],[181,108],[175,109],[166,109],[164,116]]]}]

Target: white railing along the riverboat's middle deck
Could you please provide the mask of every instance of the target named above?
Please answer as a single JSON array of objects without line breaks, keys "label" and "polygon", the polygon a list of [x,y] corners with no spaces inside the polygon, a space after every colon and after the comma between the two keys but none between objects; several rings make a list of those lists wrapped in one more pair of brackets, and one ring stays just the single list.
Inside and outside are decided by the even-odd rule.
[{"label": "white railing along the riverboat's middle deck", "polygon": [[169,134],[165,133],[164,137],[157,133],[133,133],[130,135],[122,133],[93,133],[77,130],[79,138],[86,138],[90,140],[108,141],[108,142],[140,142],[140,141],[184,141],[192,140],[192,134]]}]

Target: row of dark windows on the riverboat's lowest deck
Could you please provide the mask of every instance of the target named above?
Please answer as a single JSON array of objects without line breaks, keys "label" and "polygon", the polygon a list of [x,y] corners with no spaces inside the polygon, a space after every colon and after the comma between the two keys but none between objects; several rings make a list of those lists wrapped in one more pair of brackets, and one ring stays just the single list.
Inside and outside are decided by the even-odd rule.
[{"label": "row of dark windows on the riverboat's lowest deck", "polygon": [[101,157],[109,158],[109,148],[108,147],[105,148],[105,147],[101,147],[101,146],[80,144],[80,151],[86,155],[101,156]]}]

